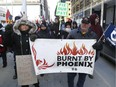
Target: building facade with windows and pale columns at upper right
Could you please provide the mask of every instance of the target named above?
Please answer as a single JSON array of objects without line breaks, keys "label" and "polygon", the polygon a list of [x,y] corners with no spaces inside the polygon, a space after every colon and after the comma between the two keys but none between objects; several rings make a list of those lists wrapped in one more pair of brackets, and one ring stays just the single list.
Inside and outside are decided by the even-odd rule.
[{"label": "building facade with windows and pale columns at upper right", "polygon": [[97,13],[104,28],[111,22],[116,25],[115,2],[116,0],[71,0],[72,18],[81,23],[82,17]]}]

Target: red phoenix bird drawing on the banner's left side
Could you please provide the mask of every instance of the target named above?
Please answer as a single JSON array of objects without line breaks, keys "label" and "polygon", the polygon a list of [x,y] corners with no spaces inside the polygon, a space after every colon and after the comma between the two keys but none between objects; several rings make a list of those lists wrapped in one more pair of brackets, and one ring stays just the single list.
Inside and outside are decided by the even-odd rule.
[{"label": "red phoenix bird drawing on the banner's left side", "polygon": [[38,66],[38,69],[41,70],[41,69],[47,69],[47,68],[50,68],[52,67],[54,64],[52,65],[48,65],[48,63],[46,62],[46,60],[44,59],[43,61],[36,58],[36,55],[37,55],[37,52],[34,48],[34,44],[32,45],[32,52],[33,52],[33,55],[34,55],[34,60],[36,62],[36,66]]}]

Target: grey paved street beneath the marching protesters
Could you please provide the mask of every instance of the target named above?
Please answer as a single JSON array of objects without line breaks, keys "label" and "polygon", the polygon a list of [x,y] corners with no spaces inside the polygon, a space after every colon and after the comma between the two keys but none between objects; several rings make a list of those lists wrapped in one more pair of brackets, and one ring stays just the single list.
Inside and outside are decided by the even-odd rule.
[{"label": "grey paved street beneath the marching protesters", "polygon": [[[20,87],[17,80],[13,80],[13,57],[9,53],[8,66],[2,68],[2,59],[0,58],[0,87]],[[100,58],[95,64],[94,79],[86,78],[84,87],[115,87],[115,67],[109,62]],[[68,87],[67,74],[46,74],[44,77],[39,77],[40,87]],[[75,85],[78,75],[75,78]],[[30,85],[30,87],[34,87]],[[76,86],[75,86],[76,87]]]}]

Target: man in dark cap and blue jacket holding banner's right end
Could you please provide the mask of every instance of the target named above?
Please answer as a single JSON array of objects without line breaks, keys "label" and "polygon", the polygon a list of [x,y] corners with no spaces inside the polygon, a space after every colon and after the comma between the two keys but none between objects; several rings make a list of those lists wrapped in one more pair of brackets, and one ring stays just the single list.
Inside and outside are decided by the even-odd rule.
[{"label": "man in dark cap and blue jacket holding banner's right end", "polygon": [[[97,35],[95,32],[90,31],[90,21],[89,18],[84,17],[81,21],[79,29],[72,30],[67,39],[96,39]],[[96,50],[102,49],[102,44],[96,42],[93,46]],[[68,87],[74,87],[74,78],[77,73],[68,73]],[[84,73],[79,73],[79,78],[76,87],[83,87],[86,80],[86,75]]]}]

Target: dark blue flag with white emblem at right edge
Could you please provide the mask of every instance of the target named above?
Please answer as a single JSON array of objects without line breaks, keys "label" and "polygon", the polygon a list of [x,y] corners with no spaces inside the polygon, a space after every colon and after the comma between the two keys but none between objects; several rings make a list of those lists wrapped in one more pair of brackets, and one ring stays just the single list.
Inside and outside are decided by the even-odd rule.
[{"label": "dark blue flag with white emblem at right edge", "polygon": [[114,26],[112,23],[109,24],[104,32],[104,36],[111,42],[111,44],[116,45],[116,26]]}]

